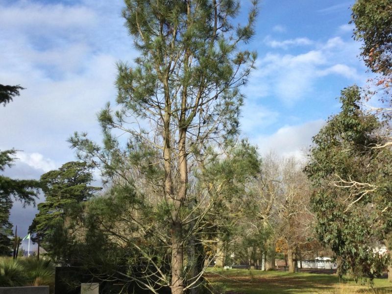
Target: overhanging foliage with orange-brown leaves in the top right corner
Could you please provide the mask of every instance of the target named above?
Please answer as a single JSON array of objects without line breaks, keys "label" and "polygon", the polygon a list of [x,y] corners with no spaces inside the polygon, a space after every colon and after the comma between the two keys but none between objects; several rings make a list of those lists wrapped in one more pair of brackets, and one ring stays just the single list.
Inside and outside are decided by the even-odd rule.
[{"label": "overhanging foliage with orange-brown leaves in the top right corner", "polygon": [[[382,103],[370,107],[383,120],[375,148],[392,146],[392,3],[391,0],[357,0],[352,6],[354,39],[362,42],[361,56],[375,77],[369,79],[366,100]],[[368,108],[368,107],[367,107]]]}]

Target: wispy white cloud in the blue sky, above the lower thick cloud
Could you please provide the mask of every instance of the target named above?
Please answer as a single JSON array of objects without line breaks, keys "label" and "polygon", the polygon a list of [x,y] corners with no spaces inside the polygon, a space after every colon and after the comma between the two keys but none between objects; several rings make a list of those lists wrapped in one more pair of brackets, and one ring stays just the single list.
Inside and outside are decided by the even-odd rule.
[{"label": "wispy white cloud in the blue sky, above the lower thick cloud", "polygon": [[347,84],[363,84],[367,76],[365,70],[358,73],[356,52],[359,45],[341,37],[313,42],[311,50],[296,55],[268,52],[259,58],[246,94],[258,98],[274,96],[291,106],[313,93],[317,82],[328,75],[341,76]]}]

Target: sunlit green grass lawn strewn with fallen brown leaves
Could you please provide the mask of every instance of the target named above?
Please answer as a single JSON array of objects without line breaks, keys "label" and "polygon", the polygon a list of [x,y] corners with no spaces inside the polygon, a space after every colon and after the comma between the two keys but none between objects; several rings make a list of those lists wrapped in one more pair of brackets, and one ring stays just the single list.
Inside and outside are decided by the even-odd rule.
[{"label": "sunlit green grass lawn strewn with fallen brown leaves", "polygon": [[392,283],[387,279],[375,279],[373,290],[368,284],[356,284],[352,280],[333,274],[289,273],[261,270],[211,270],[206,278],[217,293],[225,294],[384,294],[392,293]]}]

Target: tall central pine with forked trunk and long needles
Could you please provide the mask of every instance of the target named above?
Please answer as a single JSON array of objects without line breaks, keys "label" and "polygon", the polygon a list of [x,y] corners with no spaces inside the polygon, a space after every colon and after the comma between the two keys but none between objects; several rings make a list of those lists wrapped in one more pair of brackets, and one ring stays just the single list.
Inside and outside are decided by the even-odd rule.
[{"label": "tall central pine with forked trunk and long needles", "polygon": [[[143,174],[142,192],[154,195],[154,207],[160,208],[154,213],[166,223],[157,236],[164,233],[161,241],[170,251],[169,275],[155,263],[157,280],[182,294],[196,287],[202,274],[194,270],[192,252],[201,224],[207,223],[204,217],[233,186],[223,177],[197,197],[190,193],[191,182],[197,175],[208,179],[208,163],[238,133],[240,90],[256,59],[244,44],[254,35],[257,1],[245,25],[233,25],[240,1],[125,0],[125,5],[125,25],[140,56],[133,66],[118,64],[119,109],[107,105],[99,114],[103,147],[84,134],[75,134],[71,142],[82,158],[102,168],[113,187],[133,187],[141,177],[132,175]],[[126,140],[119,137],[123,134]],[[224,221],[219,215],[211,220]]]}]

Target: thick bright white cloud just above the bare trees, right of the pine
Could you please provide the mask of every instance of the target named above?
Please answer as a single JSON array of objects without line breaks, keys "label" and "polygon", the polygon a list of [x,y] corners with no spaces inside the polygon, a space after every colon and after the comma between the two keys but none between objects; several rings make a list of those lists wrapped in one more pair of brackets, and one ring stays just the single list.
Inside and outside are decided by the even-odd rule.
[{"label": "thick bright white cloud just above the bare trees, right of the pine", "polygon": [[269,136],[260,136],[254,140],[261,155],[271,150],[284,157],[295,156],[304,159],[312,144],[312,137],[324,125],[323,120],[311,121],[300,125],[287,125]]}]

